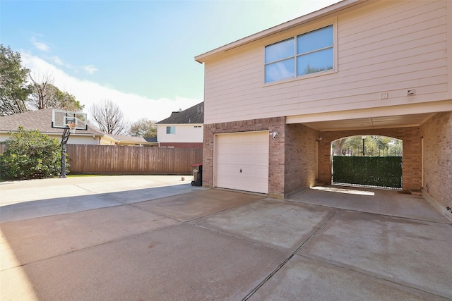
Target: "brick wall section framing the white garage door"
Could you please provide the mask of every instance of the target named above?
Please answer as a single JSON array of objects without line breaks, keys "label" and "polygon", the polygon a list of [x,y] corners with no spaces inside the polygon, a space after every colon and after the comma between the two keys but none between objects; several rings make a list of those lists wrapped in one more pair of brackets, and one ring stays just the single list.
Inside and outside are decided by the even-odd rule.
[{"label": "brick wall section framing the white garage door", "polygon": [[270,197],[283,197],[284,195],[284,141],[285,118],[262,118],[248,121],[230,123],[215,123],[204,125],[203,144],[203,186],[213,187],[213,140],[215,134],[251,132],[256,130],[269,130],[277,132],[278,136],[268,136],[269,139],[269,166],[268,166],[268,195]]}]

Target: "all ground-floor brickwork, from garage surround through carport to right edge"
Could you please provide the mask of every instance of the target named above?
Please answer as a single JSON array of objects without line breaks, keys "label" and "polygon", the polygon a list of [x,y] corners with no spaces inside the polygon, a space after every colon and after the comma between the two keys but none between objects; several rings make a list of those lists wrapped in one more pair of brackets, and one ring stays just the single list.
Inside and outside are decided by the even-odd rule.
[{"label": "all ground-floor brickwork, from garage surround through carport to right edge", "polygon": [[[441,204],[451,205],[451,120],[451,113],[441,113],[422,125],[422,133],[420,127],[319,133],[300,124],[285,125],[284,117],[205,125],[203,186],[213,187],[213,139],[215,134],[269,130],[278,132],[275,139],[269,136],[268,195],[270,197],[284,197],[290,192],[314,185],[316,180],[316,140],[319,137],[323,138],[319,141],[319,180],[331,184],[331,142],[354,135],[382,135],[403,140],[403,190],[420,190],[422,185],[421,136],[424,135],[424,146],[437,146],[438,149],[444,151],[441,159],[436,163],[432,159],[424,161],[424,176],[425,180],[430,182],[430,193],[432,197],[439,198]],[[438,135],[442,135],[439,142],[427,141],[427,139],[437,139]],[[425,149],[425,154],[436,158],[438,149]]]}]

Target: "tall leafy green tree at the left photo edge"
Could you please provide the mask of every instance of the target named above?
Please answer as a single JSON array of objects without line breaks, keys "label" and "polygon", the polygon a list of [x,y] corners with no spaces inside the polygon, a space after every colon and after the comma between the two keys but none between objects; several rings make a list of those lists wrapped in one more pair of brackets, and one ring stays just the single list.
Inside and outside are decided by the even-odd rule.
[{"label": "tall leafy green tree at the left photo edge", "polygon": [[32,91],[28,68],[22,67],[20,53],[0,44],[0,116],[28,111],[26,101]]}]

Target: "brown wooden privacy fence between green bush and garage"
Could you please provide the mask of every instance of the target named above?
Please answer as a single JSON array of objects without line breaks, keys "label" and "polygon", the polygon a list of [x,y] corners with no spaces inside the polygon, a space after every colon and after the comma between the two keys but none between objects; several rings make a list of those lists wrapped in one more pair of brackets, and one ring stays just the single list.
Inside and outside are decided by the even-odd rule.
[{"label": "brown wooden privacy fence between green bush and garage", "polygon": [[191,174],[203,149],[67,145],[71,173]]}]

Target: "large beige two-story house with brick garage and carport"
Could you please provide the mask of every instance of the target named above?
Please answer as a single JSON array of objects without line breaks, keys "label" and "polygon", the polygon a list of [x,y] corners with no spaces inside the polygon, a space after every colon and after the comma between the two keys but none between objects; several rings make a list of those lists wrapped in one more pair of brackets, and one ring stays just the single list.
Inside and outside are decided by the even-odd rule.
[{"label": "large beige two-story house with brick garage and carport", "polygon": [[196,56],[203,185],[331,183],[331,142],[403,140],[403,190],[452,206],[452,1],[345,0]]}]

